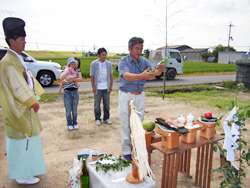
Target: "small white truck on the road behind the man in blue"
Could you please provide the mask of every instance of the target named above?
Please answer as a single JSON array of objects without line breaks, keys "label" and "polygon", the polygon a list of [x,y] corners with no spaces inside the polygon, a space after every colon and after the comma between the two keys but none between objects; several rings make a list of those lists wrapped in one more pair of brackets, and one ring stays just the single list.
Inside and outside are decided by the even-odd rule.
[{"label": "small white truck on the road behind the man in blue", "polygon": [[[153,66],[160,64],[164,61],[165,50],[151,50],[149,54],[149,61]],[[176,49],[167,49],[167,62],[166,62],[166,78],[168,80],[175,79],[176,75],[183,74],[183,59],[179,50]],[[120,59],[112,59],[109,61],[112,63],[112,66],[115,67],[115,70],[118,71],[118,65]],[[163,73],[160,76],[155,76],[157,79],[160,79],[163,76]]]}]

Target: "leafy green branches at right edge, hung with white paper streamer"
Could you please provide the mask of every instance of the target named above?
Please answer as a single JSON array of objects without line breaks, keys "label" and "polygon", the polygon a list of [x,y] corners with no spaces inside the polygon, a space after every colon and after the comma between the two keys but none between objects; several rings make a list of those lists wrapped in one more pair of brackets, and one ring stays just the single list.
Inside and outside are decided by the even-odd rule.
[{"label": "leafy green branches at right edge, hung with white paper streamer", "polygon": [[[235,155],[235,162],[238,165],[231,165],[230,161],[226,161],[225,164],[222,164],[221,167],[217,169],[212,169],[212,172],[221,173],[219,178],[222,179],[220,184],[221,188],[229,187],[229,188],[240,188],[240,187],[248,187],[243,184],[243,179],[246,177],[246,171],[244,171],[247,167],[250,166],[250,148],[247,147],[247,142],[245,141],[247,133],[247,124],[246,121],[250,117],[250,106],[242,107],[238,102],[238,96],[243,93],[244,84],[239,83],[236,85],[236,98],[235,101],[232,100],[227,107],[231,112],[235,114],[231,114],[232,117],[229,120],[224,120],[227,122],[227,125],[230,127],[230,130],[234,128],[234,132],[232,131],[232,137],[236,137],[236,142],[230,142],[231,148],[234,148],[233,154]],[[217,107],[222,110],[222,107],[217,105]],[[235,109],[235,110],[234,110]],[[230,114],[227,114],[230,116]],[[221,116],[221,118],[224,117]],[[221,119],[220,118],[220,119]],[[219,121],[219,125],[220,125]],[[245,133],[245,134],[244,134]],[[239,134],[239,135],[238,135]],[[243,135],[244,134],[244,135]],[[221,134],[225,136],[225,133]],[[222,148],[221,143],[217,143],[217,146],[214,146],[214,151],[217,151],[217,147],[220,150],[220,157],[225,158],[227,156],[227,150]],[[228,149],[228,146],[227,146]],[[230,149],[230,148],[229,148]],[[232,152],[232,151],[231,151]],[[233,155],[230,154],[230,155]],[[238,169],[237,169],[238,168]],[[243,185],[243,186],[242,186]]]}]

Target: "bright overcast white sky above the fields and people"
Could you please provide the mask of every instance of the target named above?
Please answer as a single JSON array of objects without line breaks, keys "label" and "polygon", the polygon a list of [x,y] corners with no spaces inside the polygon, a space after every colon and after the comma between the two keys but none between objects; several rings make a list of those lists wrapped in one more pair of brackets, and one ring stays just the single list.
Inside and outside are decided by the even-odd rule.
[{"label": "bright overcast white sky above the fields and people", "polygon": [[[250,0],[167,0],[167,43],[192,48],[250,48]],[[144,49],[166,42],[166,0],[0,0],[0,21],[26,22],[26,50],[128,52],[142,37]],[[7,46],[1,24],[0,46]]]}]

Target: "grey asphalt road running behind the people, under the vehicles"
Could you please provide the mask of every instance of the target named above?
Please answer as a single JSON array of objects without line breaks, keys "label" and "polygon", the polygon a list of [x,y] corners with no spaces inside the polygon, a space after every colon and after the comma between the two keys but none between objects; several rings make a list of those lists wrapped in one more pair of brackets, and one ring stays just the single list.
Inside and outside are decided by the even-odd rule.
[{"label": "grey asphalt road running behind the people, under the vehicles", "polygon": [[[211,75],[211,76],[190,76],[190,77],[176,77],[174,80],[166,80],[167,86],[176,85],[193,85],[204,83],[219,83],[227,80],[235,81],[236,75]],[[80,85],[79,91],[92,91],[90,82],[78,82]],[[57,93],[59,89],[59,83],[53,84],[51,87],[45,87],[46,93]],[[149,80],[146,82],[145,87],[158,87],[163,86],[163,79],[161,80]],[[119,89],[119,81],[115,80],[113,84],[113,90]]]}]

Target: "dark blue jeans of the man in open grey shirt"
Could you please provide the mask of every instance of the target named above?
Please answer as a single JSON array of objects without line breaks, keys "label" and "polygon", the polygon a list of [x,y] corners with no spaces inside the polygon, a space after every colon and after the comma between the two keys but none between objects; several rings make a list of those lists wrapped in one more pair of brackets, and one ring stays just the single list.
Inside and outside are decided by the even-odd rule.
[{"label": "dark blue jeans of the man in open grey shirt", "polygon": [[103,121],[109,119],[109,104],[110,104],[110,93],[107,89],[105,90],[97,90],[97,94],[94,96],[94,113],[95,120],[101,120],[101,100],[103,100]]}]

